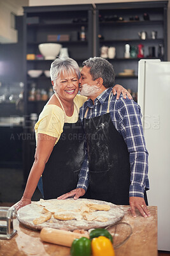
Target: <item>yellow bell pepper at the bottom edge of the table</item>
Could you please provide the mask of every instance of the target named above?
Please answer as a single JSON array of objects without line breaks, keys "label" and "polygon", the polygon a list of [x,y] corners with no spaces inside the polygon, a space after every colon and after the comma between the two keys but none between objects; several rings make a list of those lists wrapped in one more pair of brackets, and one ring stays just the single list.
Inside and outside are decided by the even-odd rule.
[{"label": "yellow bell pepper at the bottom edge of the table", "polygon": [[93,256],[115,256],[113,244],[105,236],[99,236],[92,239]]}]

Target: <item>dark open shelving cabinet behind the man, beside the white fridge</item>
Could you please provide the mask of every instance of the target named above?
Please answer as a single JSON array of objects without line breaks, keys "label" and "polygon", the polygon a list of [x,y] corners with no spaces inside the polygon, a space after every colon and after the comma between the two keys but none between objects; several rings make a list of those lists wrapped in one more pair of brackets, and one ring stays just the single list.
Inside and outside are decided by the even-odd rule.
[{"label": "dark open shelving cabinet behind the man, beside the white fridge", "polygon": [[[143,45],[143,58],[167,60],[167,3],[168,1],[96,4],[96,52],[101,47],[115,47],[116,56],[108,60],[117,74],[116,83],[138,92],[138,45]],[[146,39],[138,33],[145,31]],[[152,31],[157,31],[153,39]],[[125,58],[125,45],[137,49],[137,56]],[[160,49],[161,47],[161,49]],[[162,54],[159,51],[162,51]],[[133,76],[125,76],[124,69],[134,70]]]}]

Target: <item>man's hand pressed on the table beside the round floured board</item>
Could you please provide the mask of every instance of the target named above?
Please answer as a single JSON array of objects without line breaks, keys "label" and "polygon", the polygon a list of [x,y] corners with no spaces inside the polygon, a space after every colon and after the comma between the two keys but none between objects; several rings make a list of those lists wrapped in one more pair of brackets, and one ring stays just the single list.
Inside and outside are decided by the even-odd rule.
[{"label": "man's hand pressed on the table beside the round floured board", "polygon": [[145,200],[142,197],[131,196],[129,198],[129,204],[131,206],[132,216],[136,217],[135,209],[137,208],[143,217],[150,217],[150,212],[147,209]]}]

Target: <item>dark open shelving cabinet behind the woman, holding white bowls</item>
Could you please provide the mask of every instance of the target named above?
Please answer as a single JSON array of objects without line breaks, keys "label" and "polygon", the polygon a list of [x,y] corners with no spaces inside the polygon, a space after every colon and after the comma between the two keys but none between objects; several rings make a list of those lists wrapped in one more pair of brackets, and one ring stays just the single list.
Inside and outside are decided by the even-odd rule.
[{"label": "dark open shelving cabinet behind the woman, holding white bowls", "polygon": [[[80,38],[82,26],[85,28],[84,41]],[[31,78],[27,75],[28,70],[44,71],[50,69],[52,60],[38,60],[37,58],[26,60],[27,54],[35,54],[36,56],[40,54],[38,45],[42,43],[59,43],[62,47],[67,47],[69,57],[76,60],[79,65],[83,60],[93,56],[92,5],[24,8],[25,115],[30,115],[32,112],[39,114],[45,104],[41,100],[29,100],[32,84],[35,86],[35,93],[36,90],[44,89],[48,94],[52,88],[50,78],[46,77],[45,74],[38,78]]]}]

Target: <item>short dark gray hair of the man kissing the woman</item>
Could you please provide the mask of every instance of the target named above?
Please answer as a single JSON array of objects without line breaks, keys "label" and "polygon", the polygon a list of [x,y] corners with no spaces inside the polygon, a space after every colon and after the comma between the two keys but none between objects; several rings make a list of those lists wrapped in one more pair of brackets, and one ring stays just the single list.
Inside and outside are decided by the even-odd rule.
[{"label": "short dark gray hair of the man kissing the woman", "polygon": [[104,87],[109,88],[115,84],[115,70],[109,61],[101,57],[94,57],[83,61],[83,66],[90,68],[93,80],[102,77]]}]

